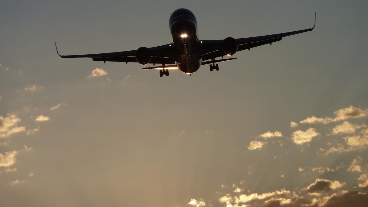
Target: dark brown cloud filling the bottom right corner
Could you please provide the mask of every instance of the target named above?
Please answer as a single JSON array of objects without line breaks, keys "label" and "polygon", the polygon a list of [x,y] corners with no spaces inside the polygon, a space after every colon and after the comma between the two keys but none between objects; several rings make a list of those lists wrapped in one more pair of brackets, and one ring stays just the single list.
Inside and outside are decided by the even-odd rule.
[{"label": "dark brown cloud filling the bottom right corner", "polygon": [[368,204],[368,194],[352,191],[332,196],[324,207],[362,207]]}]

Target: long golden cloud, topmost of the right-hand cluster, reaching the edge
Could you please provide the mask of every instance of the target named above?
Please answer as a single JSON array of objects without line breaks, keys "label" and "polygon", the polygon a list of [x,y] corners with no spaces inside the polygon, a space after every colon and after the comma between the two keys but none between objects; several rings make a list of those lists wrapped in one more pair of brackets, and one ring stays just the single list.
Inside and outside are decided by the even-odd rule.
[{"label": "long golden cloud, topmost of the right-hand cluster, reaching the edge", "polygon": [[368,110],[367,109],[360,109],[360,108],[356,108],[354,106],[349,106],[347,108],[343,108],[343,109],[339,109],[335,112],[333,112],[335,114],[335,118],[332,117],[315,117],[315,116],[311,116],[311,117],[307,117],[304,120],[301,120],[300,123],[301,124],[315,124],[315,123],[322,123],[322,124],[327,124],[330,122],[337,122],[340,120],[346,120],[346,119],[350,119],[350,118],[358,118],[358,117],[362,117],[362,116],[367,116],[368,115]]}]

